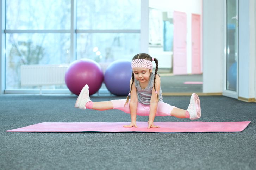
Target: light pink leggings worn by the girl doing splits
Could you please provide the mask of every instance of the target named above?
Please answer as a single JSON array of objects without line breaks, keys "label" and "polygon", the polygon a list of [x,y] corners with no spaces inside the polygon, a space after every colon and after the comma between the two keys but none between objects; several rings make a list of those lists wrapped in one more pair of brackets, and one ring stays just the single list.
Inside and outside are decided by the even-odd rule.
[{"label": "light pink leggings worn by the girl doing splits", "polygon": [[[130,114],[130,107],[129,107],[130,99],[125,106],[124,106],[124,103],[126,102],[126,99],[111,100],[110,102],[113,104],[113,109],[121,110],[121,111],[124,111],[125,113]],[[158,102],[156,116],[171,116],[171,110],[173,110],[173,108],[177,108],[177,107],[171,106],[170,104],[167,104],[164,102]],[[144,105],[138,102],[137,115],[149,116],[149,111],[150,111],[150,105]]]}]

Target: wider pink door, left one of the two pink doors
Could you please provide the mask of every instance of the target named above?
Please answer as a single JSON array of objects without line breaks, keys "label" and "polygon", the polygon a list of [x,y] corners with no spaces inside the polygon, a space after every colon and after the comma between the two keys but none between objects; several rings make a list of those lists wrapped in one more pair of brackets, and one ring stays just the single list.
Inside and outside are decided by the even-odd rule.
[{"label": "wider pink door, left one of the two pink doors", "polygon": [[173,74],[187,74],[187,15],[173,13]]}]

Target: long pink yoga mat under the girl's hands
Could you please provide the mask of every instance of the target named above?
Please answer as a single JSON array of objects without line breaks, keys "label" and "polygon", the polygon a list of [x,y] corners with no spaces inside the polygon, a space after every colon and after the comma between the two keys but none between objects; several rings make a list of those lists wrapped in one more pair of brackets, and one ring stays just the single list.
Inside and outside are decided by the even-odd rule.
[{"label": "long pink yoga mat under the girl's hands", "polygon": [[154,122],[160,128],[148,129],[148,122],[137,122],[138,128],[124,128],[130,122],[43,122],[6,132],[241,132],[246,122]]}]

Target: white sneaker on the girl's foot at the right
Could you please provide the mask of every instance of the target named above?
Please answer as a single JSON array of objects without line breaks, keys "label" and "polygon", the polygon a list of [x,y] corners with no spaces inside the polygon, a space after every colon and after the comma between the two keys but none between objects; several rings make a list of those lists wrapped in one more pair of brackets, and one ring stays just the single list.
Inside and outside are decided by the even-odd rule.
[{"label": "white sneaker on the girl's foot at the right", "polygon": [[190,119],[198,119],[201,117],[201,107],[200,107],[200,100],[197,94],[193,93],[190,98],[190,104],[187,109]]}]

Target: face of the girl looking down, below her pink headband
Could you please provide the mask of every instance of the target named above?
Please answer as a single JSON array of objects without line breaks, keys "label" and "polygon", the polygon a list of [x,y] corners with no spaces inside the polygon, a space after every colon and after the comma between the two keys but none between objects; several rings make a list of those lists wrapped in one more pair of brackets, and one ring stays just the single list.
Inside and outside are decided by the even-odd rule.
[{"label": "face of the girl looking down, below her pink headband", "polygon": [[152,73],[152,70],[144,67],[135,67],[132,69],[132,71],[134,73],[135,79],[141,83],[148,81],[150,73]]}]

